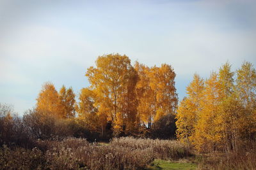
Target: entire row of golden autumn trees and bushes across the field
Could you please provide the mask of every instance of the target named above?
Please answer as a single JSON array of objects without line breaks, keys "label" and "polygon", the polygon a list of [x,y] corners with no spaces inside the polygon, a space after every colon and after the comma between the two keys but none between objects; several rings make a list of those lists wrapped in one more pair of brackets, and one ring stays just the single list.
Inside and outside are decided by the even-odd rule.
[{"label": "entire row of golden autumn trees and bushes across the field", "polygon": [[0,145],[33,146],[35,139],[74,136],[177,138],[199,152],[232,152],[256,140],[256,71],[227,62],[209,78],[198,74],[178,105],[172,66],[131,64],[126,55],[102,55],[76,98],[72,87],[47,82],[22,118],[0,104]]}]

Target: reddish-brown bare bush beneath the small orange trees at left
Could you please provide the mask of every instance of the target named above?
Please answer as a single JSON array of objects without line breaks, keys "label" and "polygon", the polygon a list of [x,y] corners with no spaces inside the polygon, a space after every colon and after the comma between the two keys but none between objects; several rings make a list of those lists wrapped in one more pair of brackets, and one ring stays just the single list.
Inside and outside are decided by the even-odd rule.
[{"label": "reddish-brown bare bush beneath the small orange trees at left", "polygon": [[67,137],[86,138],[89,141],[101,139],[99,132],[90,131],[78,118],[56,118],[50,113],[30,110],[24,115],[22,121],[32,139]]}]

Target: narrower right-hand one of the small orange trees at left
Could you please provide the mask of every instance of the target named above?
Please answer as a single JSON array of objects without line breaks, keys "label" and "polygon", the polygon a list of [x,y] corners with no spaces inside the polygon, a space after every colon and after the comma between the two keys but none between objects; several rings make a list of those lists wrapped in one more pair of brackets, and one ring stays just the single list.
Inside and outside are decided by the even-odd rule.
[{"label": "narrower right-hand one of the small orange trees at left", "polygon": [[63,85],[59,92],[59,97],[61,101],[61,105],[63,108],[62,114],[63,118],[73,118],[76,115],[75,110],[75,94],[73,92],[72,87],[66,89],[66,87]]}]

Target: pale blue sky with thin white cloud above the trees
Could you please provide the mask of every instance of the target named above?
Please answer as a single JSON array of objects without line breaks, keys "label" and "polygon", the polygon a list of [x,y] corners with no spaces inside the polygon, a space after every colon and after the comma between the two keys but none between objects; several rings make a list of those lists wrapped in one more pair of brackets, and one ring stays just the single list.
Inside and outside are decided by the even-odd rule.
[{"label": "pale blue sky with thin white cloud above the trees", "polygon": [[86,69],[108,53],[170,64],[182,99],[195,73],[256,66],[255,9],[253,0],[0,0],[0,103],[22,115],[46,81],[78,96]]}]

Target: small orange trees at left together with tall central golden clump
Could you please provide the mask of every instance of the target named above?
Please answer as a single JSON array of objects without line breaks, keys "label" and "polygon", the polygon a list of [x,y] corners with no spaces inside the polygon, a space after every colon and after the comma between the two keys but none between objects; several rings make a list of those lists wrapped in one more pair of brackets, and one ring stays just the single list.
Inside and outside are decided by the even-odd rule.
[{"label": "small orange trees at left together with tall central golden clump", "polygon": [[102,138],[142,136],[166,127],[170,131],[165,138],[175,136],[178,99],[172,66],[132,66],[129,57],[118,53],[98,57],[95,65],[86,71],[90,86],[81,89],[77,102],[72,88],[63,86],[58,92],[45,83],[36,99],[36,113],[72,118]]}]

